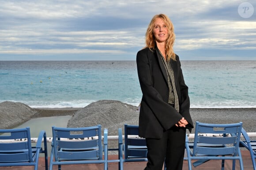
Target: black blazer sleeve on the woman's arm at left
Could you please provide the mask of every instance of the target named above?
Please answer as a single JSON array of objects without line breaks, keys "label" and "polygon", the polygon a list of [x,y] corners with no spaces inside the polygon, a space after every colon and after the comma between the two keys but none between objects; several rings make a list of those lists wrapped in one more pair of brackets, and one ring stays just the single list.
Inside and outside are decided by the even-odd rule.
[{"label": "black blazer sleeve on the woman's arm at left", "polygon": [[[163,129],[167,130],[173,127],[181,118],[181,114],[176,111],[172,106],[166,103],[162,96],[158,93],[153,86],[152,73],[151,73],[151,61],[149,56],[153,56],[153,52],[150,50],[142,50],[137,53],[137,71],[139,76],[139,83],[143,93],[143,101],[150,108],[151,112],[144,113],[147,115],[155,116]],[[161,75],[159,75],[161,76]],[[141,105],[143,107],[143,105]],[[154,114],[154,115],[152,115]]]}]

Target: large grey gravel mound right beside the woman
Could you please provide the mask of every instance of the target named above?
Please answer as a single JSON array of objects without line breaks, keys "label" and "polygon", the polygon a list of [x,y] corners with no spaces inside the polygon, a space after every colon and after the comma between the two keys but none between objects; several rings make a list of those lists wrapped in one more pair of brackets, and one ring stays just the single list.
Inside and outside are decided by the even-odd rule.
[{"label": "large grey gravel mound right beside the woman", "polygon": [[75,112],[68,121],[68,127],[90,127],[100,124],[102,130],[108,129],[109,135],[117,135],[118,128],[124,129],[124,124],[139,124],[139,112],[136,109],[136,106],[121,101],[96,101]]}]

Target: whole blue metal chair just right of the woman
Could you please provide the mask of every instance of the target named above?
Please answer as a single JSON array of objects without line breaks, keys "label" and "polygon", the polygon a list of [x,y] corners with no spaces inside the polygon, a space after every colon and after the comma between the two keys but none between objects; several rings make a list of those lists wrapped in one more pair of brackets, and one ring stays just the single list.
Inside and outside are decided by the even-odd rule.
[{"label": "whole blue metal chair just right of the woman", "polygon": [[233,160],[232,168],[235,170],[235,161],[238,159],[240,168],[243,170],[243,160],[239,148],[241,129],[241,122],[209,124],[196,121],[194,141],[189,142],[186,136],[185,147],[187,150],[188,169],[192,170],[192,159],[197,160],[193,163],[194,167],[211,159],[221,159],[222,170],[224,170],[225,160],[231,159]]}]

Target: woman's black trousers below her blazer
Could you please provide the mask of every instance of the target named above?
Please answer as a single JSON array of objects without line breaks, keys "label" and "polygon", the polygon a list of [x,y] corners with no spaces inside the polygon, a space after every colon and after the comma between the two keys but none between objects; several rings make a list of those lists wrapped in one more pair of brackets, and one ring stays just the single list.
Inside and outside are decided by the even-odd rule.
[{"label": "woman's black trousers below her blazer", "polygon": [[162,138],[146,138],[147,167],[144,170],[162,170],[166,163],[166,170],[182,170],[185,151],[184,127],[172,127],[163,133]]}]

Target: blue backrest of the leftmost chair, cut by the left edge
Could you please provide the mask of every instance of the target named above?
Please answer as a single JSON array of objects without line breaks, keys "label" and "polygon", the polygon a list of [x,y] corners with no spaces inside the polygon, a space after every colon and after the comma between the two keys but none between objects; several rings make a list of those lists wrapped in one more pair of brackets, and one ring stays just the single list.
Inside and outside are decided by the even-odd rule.
[{"label": "blue backrest of the leftmost chair, cut by the left edge", "polygon": [[29,127],[0,129],[0,134],[0,163],[33,162]]}]

